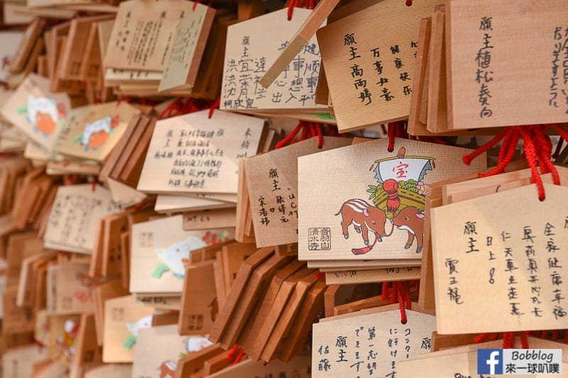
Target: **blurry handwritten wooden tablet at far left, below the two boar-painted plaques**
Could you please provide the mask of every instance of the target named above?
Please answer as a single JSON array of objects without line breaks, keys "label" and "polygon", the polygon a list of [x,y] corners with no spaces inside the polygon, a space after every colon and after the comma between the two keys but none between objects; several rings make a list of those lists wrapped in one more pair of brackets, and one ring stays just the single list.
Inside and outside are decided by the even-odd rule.
[{"label": "blurry handwritten wooden tablet at far left, below the two boar-painted plaques", "polygon": [[90,253],[97,220],[119,209],[110,191],[97,184],[60,187],[45,231],[45,244],[70,252]]}]

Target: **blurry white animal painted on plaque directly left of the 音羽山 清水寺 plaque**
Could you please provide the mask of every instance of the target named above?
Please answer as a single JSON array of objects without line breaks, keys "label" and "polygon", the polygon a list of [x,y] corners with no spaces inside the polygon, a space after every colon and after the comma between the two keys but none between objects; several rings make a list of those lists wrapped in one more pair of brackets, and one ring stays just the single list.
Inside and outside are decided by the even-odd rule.
[{"label": "blurry white animal painted on plaque directly left of the \u97f3\u7fbd\u5c71 \u6e05\u6c34\u5bfa plaque", "polygon": [[152,277],[160,278],[170,270],[174,277],[185,277],[184,260],[190,257],[190,251],[202,248],[207,244],[197,236],[190,235],[185,240],[170,245],[168,248],[156,249],[158,258],[162,260],[152,273]]}]

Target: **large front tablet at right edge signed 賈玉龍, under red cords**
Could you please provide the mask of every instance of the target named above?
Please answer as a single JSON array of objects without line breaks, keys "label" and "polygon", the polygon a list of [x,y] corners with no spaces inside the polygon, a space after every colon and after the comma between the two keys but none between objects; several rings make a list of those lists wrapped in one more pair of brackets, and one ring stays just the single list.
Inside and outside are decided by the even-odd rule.
[{"label": "large front tablet at right edge signed \u8cc8\u7389\u9f8d, under red cords", "polygon": [[[551,203],[562,209],[567,189],[544,185],[544,202],[529,185],[432,209],[440,333],[567,327],[558,255],[565,216],[542,210]],[[523,277],[520,269],[526,270]],[[468,285],[472,280],[475,288]],[[498,316],[480,316],[479,304],[472,306],[479,300],[492,301],[491,313]]]}]

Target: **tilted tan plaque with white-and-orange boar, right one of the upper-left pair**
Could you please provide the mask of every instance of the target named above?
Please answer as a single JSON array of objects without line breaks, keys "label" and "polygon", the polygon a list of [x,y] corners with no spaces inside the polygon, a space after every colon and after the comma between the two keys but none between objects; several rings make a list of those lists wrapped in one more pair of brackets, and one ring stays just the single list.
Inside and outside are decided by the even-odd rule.
[{"label": "tilted tan plaque with white-and-orange boar, right one of the upper-left pair", "polygon": [[116,143],[119,143],[133,116],[140,113],[126,101],[120,104],[107,102],[85,106],[82,117],[58,145],[62,155],[80,157],[84,160],[104,160]]}]

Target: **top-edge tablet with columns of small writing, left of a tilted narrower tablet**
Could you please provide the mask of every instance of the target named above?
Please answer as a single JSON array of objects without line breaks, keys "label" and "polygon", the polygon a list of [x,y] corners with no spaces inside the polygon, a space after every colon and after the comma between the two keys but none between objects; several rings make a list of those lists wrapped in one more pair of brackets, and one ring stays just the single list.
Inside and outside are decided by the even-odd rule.
[{"label": "top-edge tablet with columns of small writing, left of a tilted narrower tablet", "polygon": [[[123,1],[116,13],[104,67],[163,71],[173,47],[180,16],[192,11],[192,1]],[[151,40],[144,30],[154,30]]]}]

